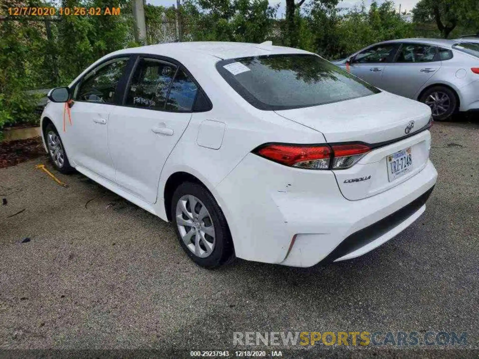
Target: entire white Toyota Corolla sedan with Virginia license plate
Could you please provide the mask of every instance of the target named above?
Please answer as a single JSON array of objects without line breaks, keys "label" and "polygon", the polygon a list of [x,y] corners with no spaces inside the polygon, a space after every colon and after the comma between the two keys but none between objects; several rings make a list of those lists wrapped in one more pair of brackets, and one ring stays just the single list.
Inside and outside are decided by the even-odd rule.
[{"label": "entire white Toyota Corolla sedan with Virginia license plate", "polygon": [[171,221],[207,268],[358,257],[414,222],[437,178],[427,105],[270,42],[120,50],[48,98],[57,170]]}]

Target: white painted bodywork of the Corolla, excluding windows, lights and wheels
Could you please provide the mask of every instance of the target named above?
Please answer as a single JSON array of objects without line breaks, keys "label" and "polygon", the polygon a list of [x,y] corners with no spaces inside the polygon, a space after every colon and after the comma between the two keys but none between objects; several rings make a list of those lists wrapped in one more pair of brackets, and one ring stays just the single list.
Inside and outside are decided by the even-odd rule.
[{"label": "white painted bodywork of the Corolla, excluding windows, lights and wheels", "polygon": [[[98,104],[86,110],[86,105],[82,106],[86,102],[78,102],[71,108],[72,124],[67,120],[64,132],[64,104],[49,102],[42,124],[46,118],[54,123],[74,168],[161,219],[168,220],[170,211],[164,198],[168,179],[185,172],[201,181],[218,202],[237,257],[308,267],[327,257],[346,237],[430,190],[437,172],[428,160],[427,129],[372,150],[346,170],[291,168],[252,154],[254,148],[270,142],[380,143],[401,137],[411,121],[415,122],[414,130],[428,123],[431,112],[427,106],[387,92],[295,110],[259,110],[239,96],[215,69],[220,59],[292,53],[307,54],[285,47],[238,43],[164,44],[117,51],[98,60],[77,79],[111,56],[167,56],[191,72],[213,108],[171,113]],[[90,114],[85,116],[87,111]],[[106,123],[94,119],[105,119]],[[169,131],[152,131],[158,127],[171,129],[171,135]],[[385,181],[386,165],[381,170],[381,161],[407,146],[417,146],[413,172],[391,183]],[[365,168],[383,173],[378,179],[375,175],[368,188],[361,183],[347,189],[338,185],[344,176],[361,176]],[[416,209],[367,246],[336,260],[353,258],[382,244],[423,211],[424,206]],[[291,247],[294,236],[297,239]]]}]

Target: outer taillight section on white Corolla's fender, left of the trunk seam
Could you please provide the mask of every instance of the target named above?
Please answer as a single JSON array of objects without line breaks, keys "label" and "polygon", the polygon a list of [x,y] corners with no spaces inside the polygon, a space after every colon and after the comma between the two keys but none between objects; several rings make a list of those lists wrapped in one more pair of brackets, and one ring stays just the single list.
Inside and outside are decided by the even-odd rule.
[{"label": "outer taillight section on white Corolla's fender, left of the trunk seam", "polygon": [[328,169],[331,159],[331,148],[327,145],[269,144],[254,152],[274,162],[298,168]]}]

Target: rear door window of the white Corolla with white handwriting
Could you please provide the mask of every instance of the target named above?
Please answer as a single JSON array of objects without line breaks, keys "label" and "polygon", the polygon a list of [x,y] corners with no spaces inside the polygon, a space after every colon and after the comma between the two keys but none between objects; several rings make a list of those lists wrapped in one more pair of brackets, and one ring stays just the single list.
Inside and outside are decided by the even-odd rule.
[{"label": "rear door window of the white Corolla with white handwriting", "polygon": [[128,106],[163,110],[177,67],[155,59],[140,59],[126,93]]}]

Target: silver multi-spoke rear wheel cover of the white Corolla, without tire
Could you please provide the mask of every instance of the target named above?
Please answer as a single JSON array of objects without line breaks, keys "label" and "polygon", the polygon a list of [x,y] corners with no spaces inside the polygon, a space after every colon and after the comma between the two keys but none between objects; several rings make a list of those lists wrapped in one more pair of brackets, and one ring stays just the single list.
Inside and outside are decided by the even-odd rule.
[{"label": "silver multi-spoke rear wheel cover of the white Corolla, without tire", "polygon": [[191,194],[176,204],[176,224],[182,241],[195,256],[208,257],[215,248],[215,227],[203,202]]}]

